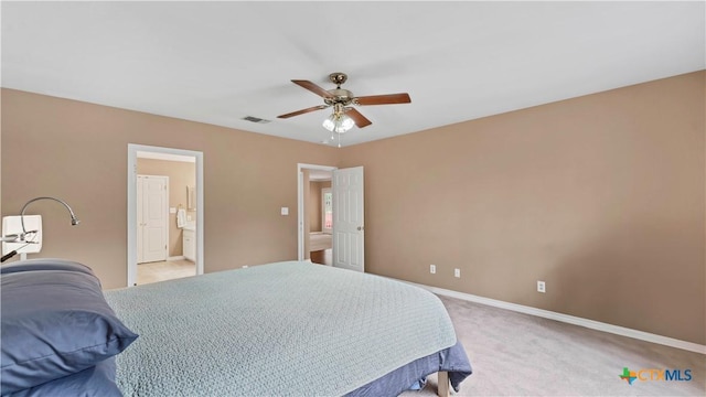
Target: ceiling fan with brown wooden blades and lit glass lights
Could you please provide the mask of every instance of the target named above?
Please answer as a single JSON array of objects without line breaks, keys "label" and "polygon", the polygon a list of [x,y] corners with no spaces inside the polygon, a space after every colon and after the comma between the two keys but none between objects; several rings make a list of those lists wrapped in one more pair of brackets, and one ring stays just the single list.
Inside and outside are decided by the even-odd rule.
[{"label": "ceiling fan with brown wooden blades and lit glass lights", "polygon": [[324,105],[313,106],[310,108],[288,112],[277,116],[277,118],[286,119],[333,106],[333,114],[323,121],[323,127],[329,131],[342,133],[351,129],[353,125],[357,126],[357,128],[363,128],[373,124],[360,111],[351,107],[351,105],[368,106],[411,103],[409,94],[407,93],[356,97],[350,90],[341,88],[341,84],[345,83],[347,78],[349,76],[345,73],[331,73],[329,75],[329,79],[331,81],[331,83],[336,85],[334,89],[323,89],[309,81],[291,81],[302,88],[309,89],[310,92],[322,97]]}]

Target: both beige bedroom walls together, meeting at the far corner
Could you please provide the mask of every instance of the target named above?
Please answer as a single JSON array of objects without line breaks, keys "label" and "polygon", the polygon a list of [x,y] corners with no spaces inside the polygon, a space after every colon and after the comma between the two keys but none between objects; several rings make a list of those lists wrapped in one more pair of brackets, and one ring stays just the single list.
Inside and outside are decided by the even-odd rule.
[{"label": "both beige bedroom walls together, meeting at the far corner", "polygon": [[3,89],[2,212],[65,198],[84,223],[38,204],[42,256],[117,287],[128,142],[204,152],[206,271],[296,258],[298,162],[364,165],[367,271],[706,344],[705,87],[687,74],[342,150]]}]

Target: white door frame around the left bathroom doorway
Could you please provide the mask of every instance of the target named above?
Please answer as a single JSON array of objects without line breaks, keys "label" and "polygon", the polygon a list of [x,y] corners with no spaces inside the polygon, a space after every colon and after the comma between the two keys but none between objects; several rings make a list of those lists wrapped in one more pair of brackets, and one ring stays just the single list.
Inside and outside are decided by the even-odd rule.
[{"label": "white door frame around the left bathroom doorway", "polygon": [[127,168],[127,203],[128,203],[128,256],[127,256],[127,287],[137,282],[137,159],[138,152],[152,152],[191,157],[196,165],[196,275],[203,275],[203,236],[204,236],[204,201],[203,201],[203,152],[194,150],[153,147],[128,143]]}]

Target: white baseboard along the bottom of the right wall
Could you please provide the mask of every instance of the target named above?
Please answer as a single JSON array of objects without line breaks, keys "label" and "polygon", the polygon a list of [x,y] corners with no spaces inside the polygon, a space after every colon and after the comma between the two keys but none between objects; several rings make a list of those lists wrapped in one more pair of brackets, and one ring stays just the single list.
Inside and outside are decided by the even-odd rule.
[{"label": "white baseboard along the bottom of the right wall", "polygon": [[[404,280],[400,280],[400,281],[404,281]],[[467,300],[467,301],[470,301],[470,302],[488,304],[488,305],[491,305],[491,307],[501,308],[501,309],[507,309],[507,310],[516,311],[516,312],[520,312],[520,313],[532,314],[532,315],[536,315],[536,316],[541,316],[541,318],[545,318],[545,319],[550,319],[550,320],[556,320],[556,321],[560,321],[560,322],[565,322],[565,323],[569,323],[569,324],[574,324],[574,325],[580,325],[580,326],[585,326],[585,328],[588,328],[588,329],[591,329],[591,330],[609,332],[609,333],[617,334],[617,335],[633,337],[633,339],[637,339],[637,340],[642,340],[642,341],[652,342],[652,343],[659,343],[659,344],[662,344],[662,345],[672,346],[672,347],[676,347],[676,348],[682,348],[682,350],[686,350],[686,351],[689,351],[689,352],[706,354],[706,345],[700,345],[700,344],[693,343],[693,342],[681,341],[681,340],[677,340],[677,339],[656,335],[656,334],[652,334],[652,333],[649,333],[649,332],[638,331],[638,330],[633,330],[633,329],[629,329],[629,328],[624,328],[624,326],[618,326],[618,325],[608,324],[608,323],[603,323],[603,322],[599,322],[599,321],[593,321],[593,320],[582,319],[582,318],[578,318],[578,316],[574,316],[574,315],[557,313],[557,312],[553,312],[553,311],[548,311],[548,310],[544,310],[544,309],[537,309],[537,308],[526,307],[526,305],[516,304],[516,303],[503,302],[503,301],[495,300],[495,299],[478,297],[478,296],[474,296],[474,294],[464,293],[464,292],[458,292],[458,291],[452,291],[452,290],[447,290],[447,289],[443,289],[443,288],[430,287],[430,286],[419,285],[419,283],[415,283],[415,282],[409,282],[409,281],[404,281],[404,282],[407,282],[407,283],[424,288],[424,289],[426,289],[426,290],[428,290],[428,291],[430,291],[432,293],[437,293],[437,294],[441,294],[441,296],[446,296],[446,297],[458,298],[458,299]]]}]

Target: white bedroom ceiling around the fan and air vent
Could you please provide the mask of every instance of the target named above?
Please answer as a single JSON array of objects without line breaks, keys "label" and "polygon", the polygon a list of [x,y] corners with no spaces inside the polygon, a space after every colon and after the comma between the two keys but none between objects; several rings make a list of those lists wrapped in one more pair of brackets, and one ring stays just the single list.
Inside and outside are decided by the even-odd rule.
[{"label": "white bedroom ceiling around the fan and air vent", "polygon": [[[357,109],[349,146],[706,68],[705,2],[8,2],[2,86],[321,142],[290,82]],[[271,120],[253,124],[254,116]]]}]

